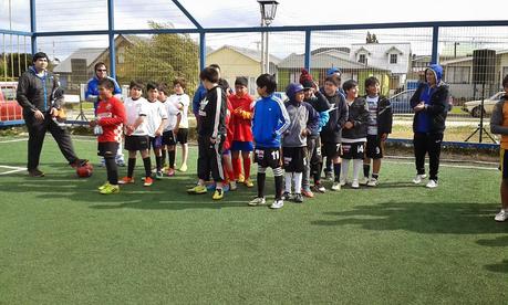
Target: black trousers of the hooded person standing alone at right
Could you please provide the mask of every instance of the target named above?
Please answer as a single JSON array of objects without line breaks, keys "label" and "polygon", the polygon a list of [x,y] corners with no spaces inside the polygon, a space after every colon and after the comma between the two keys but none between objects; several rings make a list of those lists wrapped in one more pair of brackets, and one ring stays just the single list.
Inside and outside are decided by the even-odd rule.
[{"label": "black trousers of the hooded person standing alone at right", "polygon": [[415,165],[418,175],[425,173],[425,154],[428,152],[429,179],[437,180],[439,170],[440,144],[443,134],[415,133],[413,146],[415,149]]}]

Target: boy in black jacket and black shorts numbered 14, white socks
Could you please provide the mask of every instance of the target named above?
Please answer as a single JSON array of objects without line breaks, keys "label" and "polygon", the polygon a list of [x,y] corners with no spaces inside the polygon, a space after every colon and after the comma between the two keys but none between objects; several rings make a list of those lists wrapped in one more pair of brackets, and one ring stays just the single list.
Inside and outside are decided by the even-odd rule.
[{"label": "boy in black jacket and black shorts numbered 14, white socks", "polygon": [[360,188],[360,170],[363,165],[369,125],[369,106],[365,98],[359,96],[356,81],[349,80],[342,86],[345,92],[348,118],[342,129],[342,172],[340,183],[344,186],[350,161],[353,160],[353,189]]}]

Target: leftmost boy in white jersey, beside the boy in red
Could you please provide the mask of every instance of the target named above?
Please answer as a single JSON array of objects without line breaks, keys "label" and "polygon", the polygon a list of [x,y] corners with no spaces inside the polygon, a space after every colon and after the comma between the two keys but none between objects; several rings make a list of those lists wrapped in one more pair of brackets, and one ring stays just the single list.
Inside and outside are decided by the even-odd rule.
[{"label": "leftmost boy in white jersey, beside the boy in red", "polygon": [[134,168],[136,167],[136,151],[139,151],[143,158],[145,168],[145,187],[153,183],[151,178],[152,161],[149,158],[149,139],[147,129],[147,107],[148,102],[142,96],[143,84],[132,81],[129,88],[129,97],[124,102],[127,123],[124,127],[125,149],[128,150],[127,176],[122,178],[118,183],[134,183]]}]

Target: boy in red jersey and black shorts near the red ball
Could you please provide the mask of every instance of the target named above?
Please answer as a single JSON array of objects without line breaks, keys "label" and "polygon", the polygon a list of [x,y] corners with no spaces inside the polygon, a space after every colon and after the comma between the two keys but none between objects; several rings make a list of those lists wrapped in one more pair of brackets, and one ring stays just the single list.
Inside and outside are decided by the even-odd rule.
[{"label": "boy in red jersey and black shorts near the red ball", "polygon": [[90,122],[90,126],[97,127],[94,128],[99,141],[97,155],[104,157],[106,164],[107,182],[99,188],[103,194],[120,192],[115,156],[126,117],[124,104],[113,96],[114,88],[115,84],[110,78],[99,81],[97,119]]}]

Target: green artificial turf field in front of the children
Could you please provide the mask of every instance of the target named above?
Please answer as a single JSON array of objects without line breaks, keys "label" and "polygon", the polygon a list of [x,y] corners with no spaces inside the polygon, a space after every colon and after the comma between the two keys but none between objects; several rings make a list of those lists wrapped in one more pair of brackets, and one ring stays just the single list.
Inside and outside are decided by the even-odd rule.
[{"label": "green artificial turf field in front of the children", "polygon": [[[92,138],[74,146],[97,160]],[[24,167],[25,140],[2,137],[0,151],[0,173]],[[0,304],[508,299],[508,223],[493,220],[497,170],[443,166],[428,190],[411,182],[411,160],[387,160],[377,188],[273,211],[248,207],[255,189],[242,186],[220,202],[187,194],[195,156],[187,173],[101,196],[105,169],[77,179],[46,138],[46,177],[0,175]]]}]

